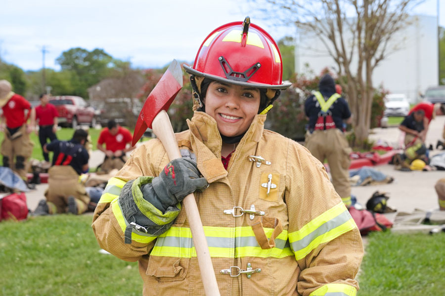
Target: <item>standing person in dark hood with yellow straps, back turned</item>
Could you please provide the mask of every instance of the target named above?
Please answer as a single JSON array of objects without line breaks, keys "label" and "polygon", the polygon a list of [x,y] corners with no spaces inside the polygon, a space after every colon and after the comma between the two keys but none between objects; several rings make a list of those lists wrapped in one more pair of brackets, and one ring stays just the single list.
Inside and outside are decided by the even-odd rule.
[{"label": "standing person in dark hood with yellow straps, back turned", "polygon": [[346,100],[336,93],[334,79],[329,74],[321,77],[318,89],[305,102],[305,113],[309,118],[305,147],[321,163],[327,158],[335,191],[349,208],[351,185],[348,168],[352,149],[343,133],[343,126],[351,122],[351,111]]}]

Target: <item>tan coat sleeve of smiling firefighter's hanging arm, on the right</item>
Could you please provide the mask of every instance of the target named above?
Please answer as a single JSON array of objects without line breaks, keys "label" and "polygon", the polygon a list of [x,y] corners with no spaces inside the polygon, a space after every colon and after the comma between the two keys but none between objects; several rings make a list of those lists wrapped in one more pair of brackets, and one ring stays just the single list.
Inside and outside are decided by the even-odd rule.
[{"label": "tan coat sleeve of smiling firefighter's hanging arm, on the right", "polygon": [[363,245],[356,223],[324,166],[298,145],[289,146],[285,198],[289,243],[301,268],[303,296],[355,296]]}]

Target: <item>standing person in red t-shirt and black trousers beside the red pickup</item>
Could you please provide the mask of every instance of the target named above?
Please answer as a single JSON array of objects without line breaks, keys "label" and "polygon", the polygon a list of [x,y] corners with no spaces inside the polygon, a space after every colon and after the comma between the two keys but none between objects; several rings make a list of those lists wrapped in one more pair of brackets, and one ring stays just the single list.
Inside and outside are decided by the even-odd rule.
[{"label": "standing person in red t-shirt and black trousers beside the red pickup", "polygon": [[[47,94],[40,95],[40,105],[35,108],[36,121],[39,123],[39,140],[42,145],[42,152],[46,162],[49,162],[48,153],[45,153],[44,146],[49,139],[49,142],[56,140],[57,136],[57,109],[54,105],[49,104]],[[34,114],[34,113],[33,113]]]}]

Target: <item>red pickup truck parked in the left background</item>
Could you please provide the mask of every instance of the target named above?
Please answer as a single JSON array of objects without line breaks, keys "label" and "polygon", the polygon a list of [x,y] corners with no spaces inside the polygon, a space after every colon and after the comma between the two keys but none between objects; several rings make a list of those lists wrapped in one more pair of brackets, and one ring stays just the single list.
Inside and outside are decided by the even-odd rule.
[{"label": "red pickup truck parked in the left background", "polygon": [[94,109],[81,97],[55,96],[49,98],[59,113],[58,122],[61,126],[77,128],[79,124],[96,125]]}]

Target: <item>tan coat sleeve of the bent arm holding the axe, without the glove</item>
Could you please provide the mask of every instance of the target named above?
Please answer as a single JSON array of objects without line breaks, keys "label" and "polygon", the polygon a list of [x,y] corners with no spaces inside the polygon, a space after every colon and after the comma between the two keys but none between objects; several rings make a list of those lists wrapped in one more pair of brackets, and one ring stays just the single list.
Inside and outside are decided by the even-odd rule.
[{"label": "tan coat sleeve of the bent arm holding the axe, without the glove", "polygon": [[131,233],[131,243],[126,244],[124,233],[128,221],[119,206],[119,195],[127,182],[140,176],[158,174],[150,162],[152,154],[156,152],[156,149],[153,149],[153,143],[156,141],[150,140],[148,145],[134,150],[124,167],[108,181],[94,211],[91,227],[100,247],[126,261],[137,261],[148,254],[156,240],[155,235],[134,229]]}]

